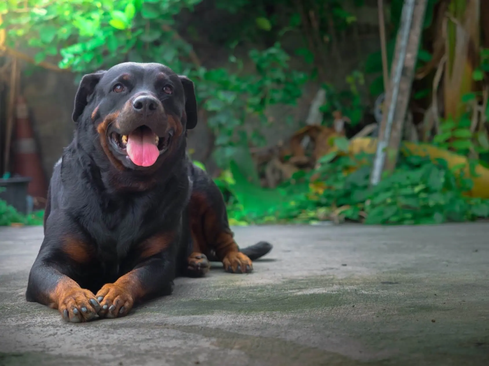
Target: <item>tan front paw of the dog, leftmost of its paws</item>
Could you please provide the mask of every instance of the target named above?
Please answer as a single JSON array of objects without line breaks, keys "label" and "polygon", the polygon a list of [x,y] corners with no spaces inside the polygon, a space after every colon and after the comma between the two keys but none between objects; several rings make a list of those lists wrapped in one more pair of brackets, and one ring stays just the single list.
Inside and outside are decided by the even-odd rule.
[{"label": "tan front paw of the dog, leftmost of its paws", "polygon": [[67,322],[81,323],[92,320],[100,310],[100,304],[91,291],[69,288],[61,295],[58,310]]}]

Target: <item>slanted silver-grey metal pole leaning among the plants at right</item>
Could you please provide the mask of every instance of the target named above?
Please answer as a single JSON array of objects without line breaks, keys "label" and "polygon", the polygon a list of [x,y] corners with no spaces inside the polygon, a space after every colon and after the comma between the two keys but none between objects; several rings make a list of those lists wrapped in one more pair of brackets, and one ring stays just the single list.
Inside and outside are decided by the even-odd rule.
[{"label": "slanted silver-grey metal pole leaning among the plants at right", "polygon": [[[392,88],[392,97],[389,104],[389,111],[387,114],[387,120],[385,122],[385,132],[383,136],[379,136],[377,143],[377,151],[374,160],[374,167],[370,177],[370,183],[377,185],[380,182],[382,175],[382,168],[385,163],[385,148],[387,147],[391,135],[392,123],[394,122],[394,112],[396,111],[396,103],[399,95],[400,79],[402,76],[402,69],[404,68],[404,61],[406,58],[407,43],[409,40],[409,31],[411,29],[411,23],[413,20],[414,4],[415,0],[405,0],[402,6],[401,26],[400,32],[400,55],[399,62],[396,64],[394,73],[392,75],[392,81],[390,87]],[[387,91],[386,91],[387,93]],[[381,138],[381,139],[380,139]]]}]

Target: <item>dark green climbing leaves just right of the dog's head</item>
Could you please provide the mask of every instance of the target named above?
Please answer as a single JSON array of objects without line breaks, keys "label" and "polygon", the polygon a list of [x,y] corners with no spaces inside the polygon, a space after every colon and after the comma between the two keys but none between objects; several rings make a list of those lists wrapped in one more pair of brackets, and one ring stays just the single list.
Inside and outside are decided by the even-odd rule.
[{"label": "dark green climbing leaves just right of the dog's head", "polygon": [[[217,135],[214,157],[222,167],[229,166],[237,146],[248,141],[263,145],[265,140],[259,127],[271,123],[266,115],[268,106],[294,105],[307,81],[304,73],[289,68],[289,55],[278,42],[264,51],[251,50],[249,57],[255,65],[255,74],[242,73],[243,65],[235,57],[230,61],[237,63],[238,73],[225,68],[200,69],[199,73],[197,92],[210,112],[207,125]],[[244,128],[249,117],[260,122],[253,129]]]}]

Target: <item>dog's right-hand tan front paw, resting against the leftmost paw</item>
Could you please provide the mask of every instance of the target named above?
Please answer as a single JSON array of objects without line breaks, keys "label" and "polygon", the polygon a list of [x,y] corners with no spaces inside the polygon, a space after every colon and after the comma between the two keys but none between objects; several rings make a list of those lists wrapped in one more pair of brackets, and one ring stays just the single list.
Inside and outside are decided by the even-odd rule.
[{"label": "dog's right-hand tan front paw, resting against the leftmost paw", "polygon": [[104,285],[97,292],[97,300],[100,303],[98,315],[103,318],[117,318],[127,315],[133,308],[133,297],[124,286],[117,284]]}]

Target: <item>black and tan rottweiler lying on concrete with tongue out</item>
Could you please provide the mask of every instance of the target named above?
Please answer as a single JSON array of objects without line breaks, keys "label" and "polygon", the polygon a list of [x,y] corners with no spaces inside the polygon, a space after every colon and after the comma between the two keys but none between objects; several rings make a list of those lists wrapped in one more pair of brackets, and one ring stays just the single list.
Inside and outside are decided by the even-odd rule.
[{"label": "black and tan rottweiler lying on concrete with tongue out", "polygon": [[73,323],[121,317],[170,294],[176,276],[203,276],[207,257],[248,273],[271,249],[260,242],[240,251],[221,192],[186,154],[197,124],[188,78],[133,62],[85,75],[73,121],[49,184],[27,301]]}]

